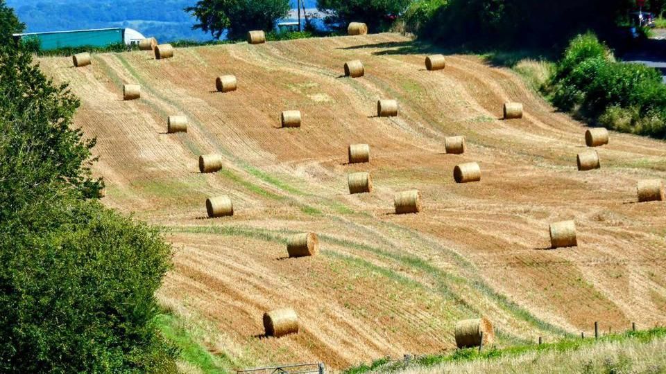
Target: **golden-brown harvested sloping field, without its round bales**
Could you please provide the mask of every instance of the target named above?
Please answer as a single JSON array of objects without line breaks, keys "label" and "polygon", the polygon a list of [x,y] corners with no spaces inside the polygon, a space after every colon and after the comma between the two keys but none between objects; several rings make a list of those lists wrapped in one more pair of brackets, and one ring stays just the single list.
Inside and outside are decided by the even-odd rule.
[{"label": "golden-brown harvested sloping field, without its round bales", "polygon": [[[175,267],[158,295],[205,321],[207,348],[238,366],[322,360],[332,368],[385,355],[453,348],[458,319],[484,314],[501,342],[663,323],[666,204],[637,204],[639,179],[666,178],[666,144],[611,134],[601,170],[578,172],[585,128],[554,113],[513,72],[451,55],[429,72],[424,53],[395,34],[96,55],[42,69],[69,82],[76,123],[97,136],[105,204],[164,226]],[[366,76],[341,78],[363,60]],[[239,90],[215,92],[237,75]],[[123,102],[122,84],[142,85]],[[397,118],[376,118],[396,98]],[[502,104],[523,119],[499,121]],[[278,129],[300,109],[300,129]],[[165,134],[169,115],[187,134]],[[445,136],[468,152],[445,154]],[[347,165],[368,143],[369,164]],[[198,173],[217,152],[224,168]],[[481,182],[455,184],[477,161]],[[368,171],[371,194],[349,195],[347,174]],[[393,214],[393,193],[418,188],[418,215]],[[230,195],[234,217],[205,219],[205,199]],[[549,247],[548,225],[577,222],[579,246]],[[291,233],[320,235],[321,256],[289,259]],[[265,310],[292,307],[301,333],[262,337]]]}]

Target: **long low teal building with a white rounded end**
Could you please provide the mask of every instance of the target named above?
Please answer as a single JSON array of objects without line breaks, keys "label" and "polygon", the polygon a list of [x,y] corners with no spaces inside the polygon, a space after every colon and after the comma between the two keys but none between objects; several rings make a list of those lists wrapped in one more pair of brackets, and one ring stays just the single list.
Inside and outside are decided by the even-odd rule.
[{"label": "long low teal building with a white rounded end", "polygon": [[37,39],[42,51],[51,49],[110,44],[137,44],[144,35],[132,28],[98,28],[92,30],[49,31],[44,33],[14,34],[16,40]]}]

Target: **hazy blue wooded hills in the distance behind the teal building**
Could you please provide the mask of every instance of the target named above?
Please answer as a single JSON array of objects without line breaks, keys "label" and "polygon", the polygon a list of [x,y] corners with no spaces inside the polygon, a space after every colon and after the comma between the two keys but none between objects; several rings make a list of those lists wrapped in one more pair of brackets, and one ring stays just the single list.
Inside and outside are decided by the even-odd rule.
[{"label": "hazy blue wooded hills in the distance behind the teal building", "polygon": [[[210,34],[192,30],[196,19],[183,8],[196,0],[7,0],[28,32],[80,28],[130,27],[160,41],[209,40]],[[296,0],[292,0],[296,6]],[[315,8],[316,0],[305,0]]]}]

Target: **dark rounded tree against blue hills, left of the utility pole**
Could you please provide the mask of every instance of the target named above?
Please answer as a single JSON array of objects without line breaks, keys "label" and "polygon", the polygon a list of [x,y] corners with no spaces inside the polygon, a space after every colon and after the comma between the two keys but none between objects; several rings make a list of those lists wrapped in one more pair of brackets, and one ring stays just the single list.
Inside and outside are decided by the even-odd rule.
[{"label": "dark rounded tree against blue hills, left of the utility pole", "polygon": [[216,39],[228,30],[230,39],[238,39],[250,30],[273,30],[289,9],[289,0],[199,0],[185,11],[198,19],[193,28],[210,32]]}]

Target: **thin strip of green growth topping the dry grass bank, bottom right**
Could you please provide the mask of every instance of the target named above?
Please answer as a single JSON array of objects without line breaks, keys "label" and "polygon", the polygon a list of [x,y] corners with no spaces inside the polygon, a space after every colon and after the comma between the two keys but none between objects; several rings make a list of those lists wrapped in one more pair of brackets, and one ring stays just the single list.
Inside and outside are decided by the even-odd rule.
[{"label": "thin strip of green growth topping the dry grass bank, bottom right", "polygon": [[[666,328],[654,328],[644,331],[630,331],[624,334],[606,335],[600,337],[598,342],[622,342],[634,341],[639,344],[647,344],[656,339],[663,339],[666,337]],[[471,362],[481,359],[497,359],[499,357],[515,357],[525,355],[527,353],[538,352],[556,352],[567,353],[573,350],[579,350],[588,346],[593,346],[597,341],[595,339],[563,339],[556,343],[549,344],[529,344],[522,346],[512,346],[508,348],[489,348],[479,353],[478,348],[466,348],[455,350],[453,353],[443,353],[439,355],[426,355],[418,357],[413,360],[411,364],[405,364],[402,361],[391,361],[388,358],[377,359],[371,364],[363,364],[348,368],[343,371],[344,374],[363,374],[369,372],[390,373],[393,371],[400,371],[404,368],[419,367],[428,368],[438,364],[445,364],[447,362]]]}]

